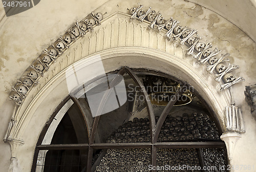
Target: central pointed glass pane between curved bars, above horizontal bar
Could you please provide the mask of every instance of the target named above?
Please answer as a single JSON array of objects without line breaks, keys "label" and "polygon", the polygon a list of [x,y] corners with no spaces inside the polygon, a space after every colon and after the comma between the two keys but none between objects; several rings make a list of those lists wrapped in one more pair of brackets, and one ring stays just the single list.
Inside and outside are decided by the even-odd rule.
[{"label": "central pointed glass pane between curved bars, above horizontal bar", "polygon": [[[129,75],[123,76],[125,102],[111,112],[100,115],[95,143],[128,143],[150,142],[150,122],[145,96],[139,85]],[[120,91],[121,89],[119,89]],[[116,89],[118,91],[118,89]],[[113,93],[114,94],[114,93]],[[118,94],[118,93],[117,93]],[[121,94],[122,91],[121,91]],[[107,103],[116,100],[118,96],[107,98]],[[114,106],[112,106],[114,107]]]}]

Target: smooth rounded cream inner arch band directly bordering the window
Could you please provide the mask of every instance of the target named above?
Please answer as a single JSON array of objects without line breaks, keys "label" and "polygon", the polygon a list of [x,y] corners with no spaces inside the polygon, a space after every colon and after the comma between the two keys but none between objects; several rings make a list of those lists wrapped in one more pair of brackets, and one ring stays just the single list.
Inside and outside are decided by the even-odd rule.
[{"label": "smooth rounded cream inner arch band directly bordering the window", "polygon": [[[88,66],[97,62],[97,60],[95,60],[97,57],[101,57],[106,73],[120,69],[124,65],[129,65],[131,68],[140,68],[143,62],[144,68],[157,71],[161,70],[166,74],[179,76],[180,79],[193,85],[201,96],[205,98],[206,103],[209,104],[210,108],[216,113],[222,131],[225,131],[223,108],[229,102],[226,102],[222,94],[219,95],[216,90],[212,89],[197,71],[191,70],[190,66],[182,59],[159,50],[148,48],[113,48],[82,58],[63,69],[44,85],[32,101],[27,101],[26,99],[23,105],[19,107],[15,114],[17,123],[11,128],[11,133],[13,133],[11,136],[16,138],[16,140],[22,139],[25,142],[22,146],[19,146],[19,144],[13,152],[13,156],[19,160],[20,165],[30,163],[25,162],[25,160],[22,159],[23,156],[27,156],[31,158],[31,160],[33,159],[34,148],[42,128],[58,104],[69,95],[70,92],[67,88],[67,80],[69,76],[73,74],[73,69],[75,68],[76,72],[84,71]],[[113,61],[115,61],[115,63],[113,63]],[[155,66],[152,67],[152,64],[155,64]],[[95,73],[86,74],[83,82],[87,82],[104,74],[101,72],[102,71],[99,70]],[[202,85],[204,85],[204,87],[202,87]],[[80,85],[76,85],[73,89],[79,86]],[[54,103],[49,104],[49,102]],[[9,140],[11,139],[12,138],[9,138]],[[12,141],[10,141],[10,143],[12,144]],[[31,164],[27,165],[31,166]]]}]

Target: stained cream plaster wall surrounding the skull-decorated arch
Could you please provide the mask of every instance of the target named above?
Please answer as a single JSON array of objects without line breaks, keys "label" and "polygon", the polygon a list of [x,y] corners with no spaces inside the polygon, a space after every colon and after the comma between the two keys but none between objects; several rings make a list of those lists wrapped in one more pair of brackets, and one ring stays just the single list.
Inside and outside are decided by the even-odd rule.
[{"label": "stained cream plaster wall surrounding the skull-decorated arch", "polygon": [[[99,8],[96,11],[102,13],[106,11],[108,14],[105,16],[108,16],[116,11],[128,12],[127,8],[137,6],[139,1],[112,0],[104,4],[105,2],[107,1],[96,0],[93,3],[92,1],[91,3],[76,1],[71,4],[70,1],[52,2],[45,0],[28,11],[8,18],[3,17],[0,22],[0,78],[2,81],[0,85],[0,137],[3,138],[5,135],[14,106],[13,102],[6,101],[11,85],[15,84],[16,79],[29,67],[42,49],[47,48],[61,33],[72,26],[75,20],[82,19],[97,7]],[[246,133],[237,143],[238,147],[234,152],[233,164],[256,165],[253,162],[253,156],[256,154],[255,146],[253,146],[256,141],[256,122],[249,112],[243,93],[245,85],[255,83],[256,69],[253,67],[256,62],[255,43],[238,27],[223,17],[193,3],[178,0],[150,3],[140,1],[140,3],[145,6],[144,8],[151,6],[156,11],[160,11],[166,18],[173,16],[180,21],[182,26],[197,29],[200,36],[212,42],[213,47],[228,51],[231,54],[231,63],[240,66],[235,74],[243,76],[246,81],[234,86],[232,90],[237,105],[242,107]],[[3,9],[0,12],[3,16]],[[166,48],[170,52],[174,46]],[[178,47],[176,55],[182,53],[181,47]],[[190,57],[183,55],[181,57],[195,67],[195,70],[198,70],[201,75],[204,75],[210,84],[217,85],[212,81],[213,76],[207,75],[206,71],[203,70],[205,67],[199,66]],[[55,100],[56,104],[53,104],[53,108],[61,101],[57,98]],[[29,140],[27,141],[29,142]],[[0,167],[3,171],[8,171],[9,145],[1,141],[0,150],[2,151]],[[32,151],[33,147],[30,150]],[[26,171],[28,169],[30,168],[27,167]]]}]

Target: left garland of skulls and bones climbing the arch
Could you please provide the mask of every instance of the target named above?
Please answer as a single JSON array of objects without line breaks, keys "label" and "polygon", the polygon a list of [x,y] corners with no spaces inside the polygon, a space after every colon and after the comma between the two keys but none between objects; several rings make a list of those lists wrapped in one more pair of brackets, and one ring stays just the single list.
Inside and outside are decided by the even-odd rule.
[{"label": "left garland of skulls and bones climbing the arch", "polygon": [[78,38],[84,36],[87,32],[92,31],[97,25],[100,25],[103,14],[92,12],[89,17],[76,21],[68,31],[53,43],[48,49],[42,51],[42,54],[33,62],[24,75],[17,80],[12,87],[12,93],[9,97],[17,105],[21,105],[28,91],[34,84],[38,83],[40,76],[43,76],[53,62],[67,50]]}]

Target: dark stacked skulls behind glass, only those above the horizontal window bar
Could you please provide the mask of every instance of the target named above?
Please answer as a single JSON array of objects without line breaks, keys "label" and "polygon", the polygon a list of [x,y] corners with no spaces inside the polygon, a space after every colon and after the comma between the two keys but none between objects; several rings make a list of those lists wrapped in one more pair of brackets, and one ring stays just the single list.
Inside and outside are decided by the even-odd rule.
[{"label": "dark stacked skulls behind glass, only those above the horizontal window bar", "polygon": [[[155,120],[158,121],[156,116]],[[134,118],[113,132],[106,140],[108,143],[150,142],[150,121],[147,118]],[[182,116],[167,116],[158,136],[158,142],[194,141],[199,139],[220,140],[214,121],[206,114],[184,113]]]}]

